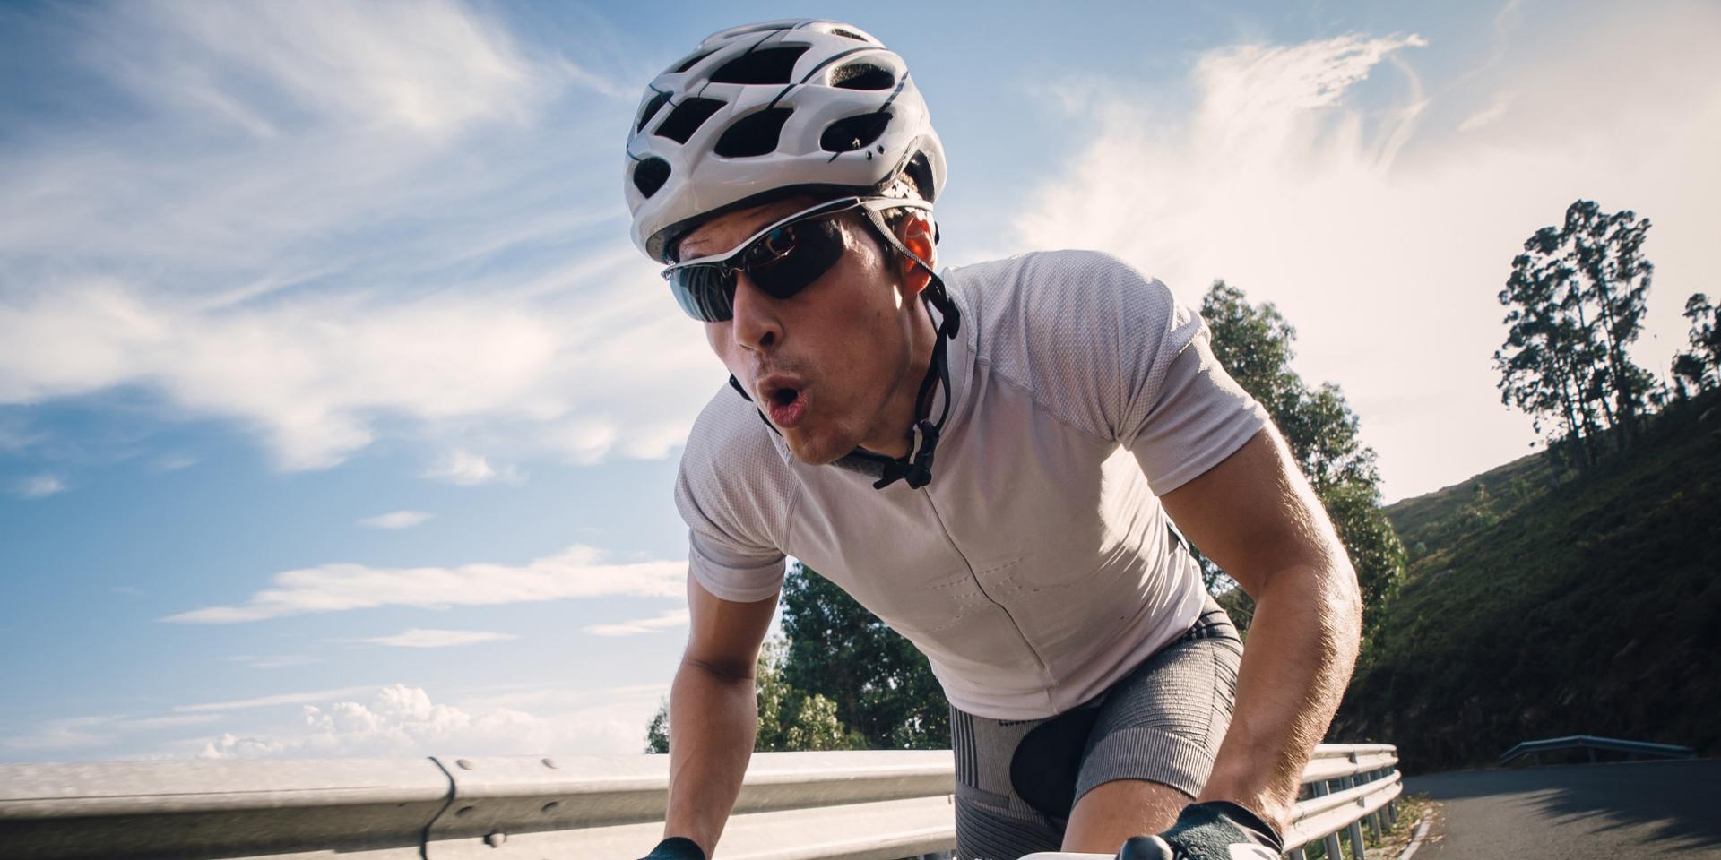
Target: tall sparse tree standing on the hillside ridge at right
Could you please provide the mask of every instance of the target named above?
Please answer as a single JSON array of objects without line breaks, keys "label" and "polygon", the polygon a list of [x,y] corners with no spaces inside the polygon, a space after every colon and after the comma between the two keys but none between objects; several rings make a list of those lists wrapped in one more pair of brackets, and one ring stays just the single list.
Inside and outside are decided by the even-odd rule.
[{"label": "tall sparse tree standing on the hillside ridge at right", "polygon": [[1537,432],[1558,421],[1549,449],[1588,466],[1604,430],[1632,447],[1656,396],[1626,347],[1644,329],[1654,265],[1644,258],[1649,218],[1606,213],[1580,200],[1561,227],[1542,227],[1513,258],[1499,301],[1506,342],[1494,353],[1501,402],[1530,413]]}]

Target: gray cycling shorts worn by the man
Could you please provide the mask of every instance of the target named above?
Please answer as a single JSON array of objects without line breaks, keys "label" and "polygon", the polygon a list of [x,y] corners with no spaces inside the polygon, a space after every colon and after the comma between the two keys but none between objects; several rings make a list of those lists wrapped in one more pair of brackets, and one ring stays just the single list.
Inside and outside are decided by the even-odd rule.
[{"label": "gray cycling shorts worn by the man", "polygon": [[957,860],[1057,851],[1076,802],[1113,779],[1194,798],[1231,726],[1241,659],[1237,628],[1208,599],[1189,633],[1072,710],[998,721],[952,707]]}]

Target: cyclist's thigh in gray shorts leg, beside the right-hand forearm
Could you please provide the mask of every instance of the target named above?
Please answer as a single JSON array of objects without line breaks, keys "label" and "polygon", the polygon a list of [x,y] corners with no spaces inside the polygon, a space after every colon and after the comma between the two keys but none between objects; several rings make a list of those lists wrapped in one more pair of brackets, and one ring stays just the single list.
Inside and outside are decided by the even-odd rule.
[{"label": "cyclist's thigh in gray shorts leg, beside the right-hand forearm", "polygon": [[1208,599],[1189,633],[1107,691],[1076,781],[1077,808],[1086,793],[1117,779],[1200,795],[1231,726],[1241,660],[1237,630]]}]

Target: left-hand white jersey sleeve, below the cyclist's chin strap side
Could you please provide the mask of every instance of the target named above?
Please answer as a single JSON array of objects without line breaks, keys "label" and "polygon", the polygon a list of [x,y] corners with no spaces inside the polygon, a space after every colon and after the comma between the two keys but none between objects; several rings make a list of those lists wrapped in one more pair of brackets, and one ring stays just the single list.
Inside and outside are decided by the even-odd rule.
[{"label": "left-hand white jersey sleeve, below the cyclist's chin strap side", "polygon": [[694,580],[723,600],[766,600],[781,590],[786,559],[771,537],[776,507],[781,507],[773,501],[780,494],[769,492],[771,485],[757,485],[771,471],[768,458],[774,451],[759,451],[745,437],[731,435],[742,428],[726,427],[735,421],[721,413],[735,409],[721,402],[725,394],[719,392],[694,423],[675,482],[675,507],[687,523],[687,562]]}]

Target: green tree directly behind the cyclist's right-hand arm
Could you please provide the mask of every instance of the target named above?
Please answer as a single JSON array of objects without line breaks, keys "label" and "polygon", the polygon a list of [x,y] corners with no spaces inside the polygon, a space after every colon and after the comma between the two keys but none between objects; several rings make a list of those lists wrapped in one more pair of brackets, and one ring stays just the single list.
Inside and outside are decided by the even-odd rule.
[{"label": "green tree directly behind the cyclist's right-hand arm", "polygon": [[[1380,471],[1375,451],[1361,442],[1356,413],[1335,384],[1310,389],[1291,370],[1296,329],[1272,303],[1251,304],[1241,289],[1215,280],[1201,299],[1201,316],[1212,329],[1213,356],[1272,415],[1325,506],[1356,569],[1365,628],[1372,630],[1404,580],[1404,545],[1380,509]],[[1222,595],[1225,609],[1246,626],[1253,602],[1212,559],[1200,550],[1196,559],[1208,590]]]}]

